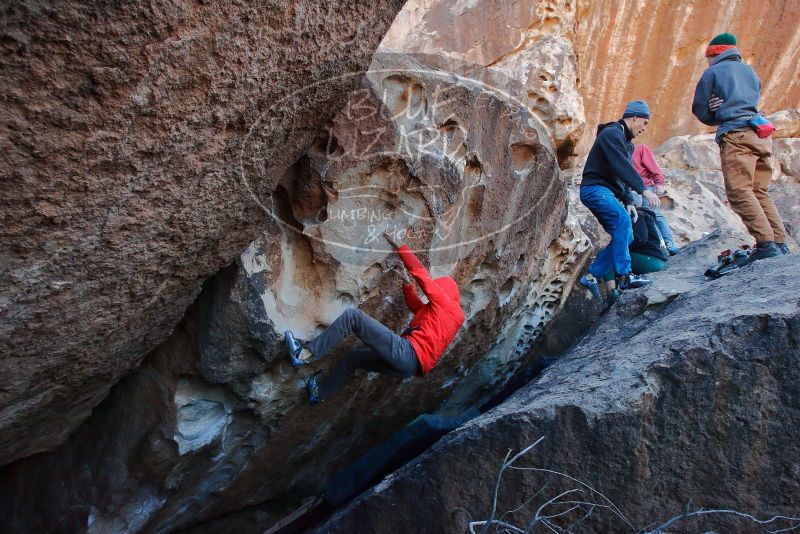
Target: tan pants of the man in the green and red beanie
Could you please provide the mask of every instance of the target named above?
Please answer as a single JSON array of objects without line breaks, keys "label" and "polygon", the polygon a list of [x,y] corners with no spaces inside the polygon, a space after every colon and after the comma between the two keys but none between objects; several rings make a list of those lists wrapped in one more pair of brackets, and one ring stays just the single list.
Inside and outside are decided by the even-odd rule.
[{"label": "tan pants of the man in the green and red beanie", "polygon": [[783,220],[769,197],[772,141],[753,130],[726,133],[720,146],[722,176],[731,208],[756,242],[786,242]]}]

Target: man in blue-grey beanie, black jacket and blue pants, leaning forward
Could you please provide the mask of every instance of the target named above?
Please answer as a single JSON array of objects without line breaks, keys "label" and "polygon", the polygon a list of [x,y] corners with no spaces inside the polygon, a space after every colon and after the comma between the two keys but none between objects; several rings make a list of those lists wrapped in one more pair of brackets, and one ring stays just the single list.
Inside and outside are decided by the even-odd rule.
[{"label": "man in blue-grey beanie, black jacket and blue pants, leaning forward", "polygon": [[[629,102],[617,122],[597,127],[594,141],[581,181],[581,202],[611,235],[611,242],[598,254],[589,267],[594,279],[584,277],[581,284],[599,295],[597,280],[613,271],[619,280],[620,289],[642,287],[650,280],[631,272],[631,256],[628,245],[633,241],[631,217],[636,218],[631,190],[636,191],[650,204],[658,208],[658,196],[645,188],[641,176],[633,168],[634,137],[641,135],[650,122],[650,108],[642,100]],[[623,207],[624,205],[624,207]]]}]

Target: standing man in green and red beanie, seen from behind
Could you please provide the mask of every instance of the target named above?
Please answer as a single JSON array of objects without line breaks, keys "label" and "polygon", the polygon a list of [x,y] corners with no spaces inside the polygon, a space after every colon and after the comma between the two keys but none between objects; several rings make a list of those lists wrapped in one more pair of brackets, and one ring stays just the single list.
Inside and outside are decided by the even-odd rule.
[{"label": "standing man in green and red beanie, seen from behind", "polygon": [[758,113],[761,81],[742,62],[736,37],[723,33],[706,48],[708,68],[692,102],[692,113],[717,127],[725,192],[731,208],[756,240],[750,261],[788,254],[783,220],[769,196],[772,142],[760,139],[748,119]]}]

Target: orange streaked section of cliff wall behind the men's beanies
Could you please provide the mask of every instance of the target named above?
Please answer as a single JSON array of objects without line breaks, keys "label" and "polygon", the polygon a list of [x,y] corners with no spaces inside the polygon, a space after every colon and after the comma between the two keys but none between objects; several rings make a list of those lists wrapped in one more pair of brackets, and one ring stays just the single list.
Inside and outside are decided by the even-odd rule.
[{"label": "orange streaked section of cliff wall behind the men's beanies", "polygon": [[644,98],[654,116],[642,142],[712,131],[690,108],[708,66],[705,47],[725,31],[736,35],[744,60],[761,78],[764,111],[800,104],[797,0],[579,0],[576,25],[589,125],[614,119],[625,102]]}]

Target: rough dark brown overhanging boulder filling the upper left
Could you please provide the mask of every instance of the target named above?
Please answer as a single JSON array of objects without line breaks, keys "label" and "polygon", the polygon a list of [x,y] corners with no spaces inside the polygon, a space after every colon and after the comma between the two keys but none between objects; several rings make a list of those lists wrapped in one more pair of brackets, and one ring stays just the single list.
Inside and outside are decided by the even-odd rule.
[{"label": "rough dark brown overhanging boulder filling the upper left", "polygon": [[258,235],[401,5],[3,6],[0,464],[60,444]]}]

